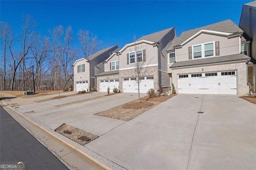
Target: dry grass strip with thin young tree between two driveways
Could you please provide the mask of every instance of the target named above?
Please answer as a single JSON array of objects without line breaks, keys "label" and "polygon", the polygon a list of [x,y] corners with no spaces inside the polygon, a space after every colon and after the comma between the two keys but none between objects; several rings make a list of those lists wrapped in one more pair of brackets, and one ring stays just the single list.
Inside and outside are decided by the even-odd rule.
[{"label": "dry grass strip with thin young tree between two driveways", "polygon": [[130,121],[131,119],[137,117],[138,115],[144,113],[145,111],[151,109],[152,107],[158,105],[159,103],[166,101],[176,94],[170,96],[160,96],[148,99],[148,96],[142,97],[141,102],[138,103],[138,100],[126,103],[124,105],[114,107],[107,111],[98,113],[96,115],[109,117],[113,119],[120,119],[123,121]]}]

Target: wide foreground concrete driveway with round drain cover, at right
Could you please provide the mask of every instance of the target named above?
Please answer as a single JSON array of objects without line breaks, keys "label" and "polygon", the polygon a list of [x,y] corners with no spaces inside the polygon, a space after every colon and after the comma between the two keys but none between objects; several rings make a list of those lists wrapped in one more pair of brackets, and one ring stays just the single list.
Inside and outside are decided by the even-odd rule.
[{"label": "wide foreground concrete driveway with round drain cover, at right", "polygon": [[127,169],[256,169],[256,105],[177,95],[85,147]]}]

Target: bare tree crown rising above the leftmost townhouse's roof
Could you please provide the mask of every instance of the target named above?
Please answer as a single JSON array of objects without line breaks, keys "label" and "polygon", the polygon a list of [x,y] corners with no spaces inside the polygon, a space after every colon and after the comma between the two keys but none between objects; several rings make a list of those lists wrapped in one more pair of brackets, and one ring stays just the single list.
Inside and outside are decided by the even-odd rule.
[{"label": "bare tree crown rising above the leftmost townhouse's roof", "polygon": [[99,50],[102,42],[98,40],[96,35],[90,34],[88,30],[79,30],[77,36],[84,58]]}]

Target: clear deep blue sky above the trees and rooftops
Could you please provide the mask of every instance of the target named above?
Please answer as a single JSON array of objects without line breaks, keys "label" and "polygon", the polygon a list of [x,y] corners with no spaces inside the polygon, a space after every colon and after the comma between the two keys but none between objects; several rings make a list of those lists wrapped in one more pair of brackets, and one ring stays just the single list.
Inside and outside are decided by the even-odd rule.
[{"label": "clear deep blue sky above the trees and rooftops", "polygon": [[[89,30],[102,40],[102,48],[122,48],[137,38],[175,27],[183,31],[230,19],[239,24],[243,1],[0,1],[0,20],[20,32],[22,15],[36,20],[36,30],[47,36],[54,26]],[[78,42],[76,42],[78,43]]]}]

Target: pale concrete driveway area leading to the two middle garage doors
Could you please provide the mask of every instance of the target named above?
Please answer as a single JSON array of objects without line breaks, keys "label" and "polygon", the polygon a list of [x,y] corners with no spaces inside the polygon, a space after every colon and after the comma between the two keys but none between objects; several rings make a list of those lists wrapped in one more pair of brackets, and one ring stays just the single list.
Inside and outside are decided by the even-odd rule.
[{"label": "pale concrete driveway area leading to the two middle garage doors", "polygon": [[[97,92],[87,95],[66,97],[60,100],[57,99],[41,103],[33,103],[30,105],[23,105],[19,106],[17,109],[28,115],[28,117],[36,119],[43,125],[52,128],[53,130],[66,123],[101,136],[113,128],[125,123],[125,121],[100,117],[94,114],[123,105],[130,101],[134,101],[138,98],[137,94],[135,93],[118,93],[116,95],[101,97],[98,99],[90,99],[105,94],[106,93],[104,92]],[[141,97],[145,95],[146,94],[141,94]],[[56,105],[81,99],[90,100],[65,105],[62,107],[56,107]],[[34,112],[26,113],[28,111]]]}]

